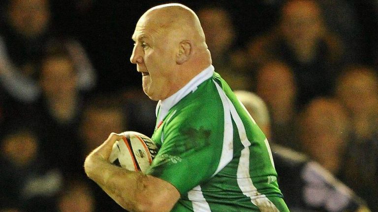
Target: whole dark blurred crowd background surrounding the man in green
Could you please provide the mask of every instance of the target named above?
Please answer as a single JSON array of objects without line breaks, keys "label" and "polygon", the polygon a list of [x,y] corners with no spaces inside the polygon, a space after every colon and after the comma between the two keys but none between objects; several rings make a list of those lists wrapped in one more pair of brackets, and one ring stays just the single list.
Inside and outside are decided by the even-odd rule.
[{"label": "whole dark blurred crowd background surrounding the man in green", "polygon": [[[152,135],[128,58],[140,15],[166,2],[1,0],[0,212],[123,211],[83,163],[110,132]],[[248,94],[290,210],[378,212],[378,2],[177,2]]]}]

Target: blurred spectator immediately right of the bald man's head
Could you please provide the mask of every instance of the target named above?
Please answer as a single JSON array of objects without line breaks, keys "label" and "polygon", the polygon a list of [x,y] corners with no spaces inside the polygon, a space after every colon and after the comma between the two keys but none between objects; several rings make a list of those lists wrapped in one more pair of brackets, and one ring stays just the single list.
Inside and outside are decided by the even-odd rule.
[{"label": "blurred spectator immediately right of the bald man's head", "polygon": [[252,76],[246,72],[246,56],[235,47],[236,31],[224,8],[203,7],[197,12],[204,30],[212,63],[231,89],[251,89]]}]

